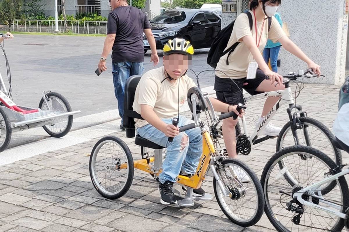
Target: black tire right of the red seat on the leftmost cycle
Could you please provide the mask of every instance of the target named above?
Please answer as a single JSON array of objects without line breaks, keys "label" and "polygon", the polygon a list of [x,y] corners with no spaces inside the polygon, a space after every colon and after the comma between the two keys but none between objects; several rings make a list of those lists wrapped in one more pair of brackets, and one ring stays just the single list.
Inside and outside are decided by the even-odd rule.
[{"label": "black tire right of the red seat on the leftmost cycle", "polygon": [[[47,97],[49,97],[49,98],[55,97],[55,98],[60,99],[60,101],[62,101],[62,103],[65,105],[65,108],[66,108],[67,112],[72,111],[72,107],[70,106],[68,100],[63,95],[61,95],[59,93],[55,93],[55,92],[50,92],[50,93],[47,93]],[[42,109],[43,104],[44,104],[44,98],[41,98],[40,103],[39,103],[39,108],[40,109]],[[50,128],[49,128],[50,125],[43,126],[44,130],[47,132],[47,134],[49,134],[52,137],[60,138],[60,137],[65,136],[66,134],[69,133],[69,131],[72,128],[72,125],[73,125],[73,115],[69,115],[69,116],[66,116],[66,117],[68,118],[67,119],[67,125],[61,131],[54,132],[54,131],[50,130]]]}]

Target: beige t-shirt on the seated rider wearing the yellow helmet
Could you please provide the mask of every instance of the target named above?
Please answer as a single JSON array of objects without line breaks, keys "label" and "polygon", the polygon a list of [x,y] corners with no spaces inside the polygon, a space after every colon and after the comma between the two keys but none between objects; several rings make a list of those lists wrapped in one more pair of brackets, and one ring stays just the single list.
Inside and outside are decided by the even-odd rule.
[{"label": "beige t-shirt on the seated rider wearing the yellow helmet", "polygon": [[[136,88],[134,95],[133,110],[141,114],[141,104],[153,107],[156,115],[161,118],[174,118],[178,115],[178,99],[179,110],[185,103],[188,90],[196,86],[194,81],[187,75],[174,83],[165,80],[164,67],[150,70],[143,74]],[[179,81],[179,95],[178,95]],[[145,120],[134,119],[136,127],[143,127],[149,124]]]}]

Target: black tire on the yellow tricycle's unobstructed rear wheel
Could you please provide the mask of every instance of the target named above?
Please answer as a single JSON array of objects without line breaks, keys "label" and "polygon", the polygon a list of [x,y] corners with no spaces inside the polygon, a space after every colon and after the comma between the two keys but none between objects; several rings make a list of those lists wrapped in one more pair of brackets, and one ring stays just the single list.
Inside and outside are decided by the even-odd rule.
[{"label": "black tire on the yellow tricycle's unobstructed rear wheel", "polygon": [[[114,143],[114,144],[117,144],[118,146],[121,147],[122,151],[124,152],[124,154],[126,156],[125,163],[128,166],[127,167],[127,169],[128,169],[127,170],[127,178],[126,178],[125,184],[123,184],[121,186],[121,189],[119,191],[114,192],[114,193],[106,191],[104,189],[104,187],[100,185],[100,184],[103,184],[103,183],[98,183],[99,182],[98,179],[97,179],[98,177],[96,178],[96,176],[95,176],[96,175],[95,174],[95,169],[96,169],[96,158],[97,158],[97,155],[98,155],[99,150],[101,149],[101,147],[104,144],[107,144],[107,143]],[[113,159],[113,158],[114,157],[112,157],[112,158],[110,157],[110,159]],[[115,160],[117,160],[117,159],[115,159]],[[115,160],[114,160],[114,164],[115,164]],[[119,165],[121,166],[121,163],[119,163]],[[108,165],[107,165],[107,167],[108,167]],[[107,167],[106,167],[107,170],[111,170],[111,169],[109,169]],[[133,164],[133,158],[132,158],[131,151],[129,150],[129,148],[126,145],[126,143],[124,141],[122,141],[120,138],[115,137],[115,136],[105,136],[105,137],[99,139],[99,141],[95,144],[95,146],[92,149],[91,156],[90,156],[90,162],[89,162],[89,170],[90,170],[90,177],[91,177],[92,184],[93,184],[93,186],[95,187],[95,189],[97,190],[97,192],[99,194],[101,194],[103,197],[105,197],[107,199],[117,199],[117,198],[120,198],[123,195],[125,195],[125,193],[129,190],[129,188],[130,188],[130,186],[132,184],[132,180],[133,180],[134,164]],[[116,168],[116,170],[118,170],[118,168]],[[118,171],[120,171],[120,169]],[[122,175],[124,175],[124,174],[122,174]]]}]

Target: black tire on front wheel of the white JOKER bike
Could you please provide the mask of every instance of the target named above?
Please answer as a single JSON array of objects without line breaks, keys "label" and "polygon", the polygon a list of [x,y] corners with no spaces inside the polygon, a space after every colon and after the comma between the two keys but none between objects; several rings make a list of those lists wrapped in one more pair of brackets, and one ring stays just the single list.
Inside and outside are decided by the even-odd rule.
[{"label": "black tire on front wheel of the white JOKER bike", "polygon": [[[333,154],[329,155],[329,157],[331,157],[336,163],[337,165],[341,165],[342,163],[342,154],[340,152],[340,150],[334,145],[333,141],[335,139],[334,135],[331,133],[331,131],[321,122],[319,122],[318,120],[315,120],[313,118],[308,118],[308,117],[299,117],[299,120],[302,124],[302,126],[304,127],[305,125],[307,125],[308,127],[311,125],[313,127],[318,128],[319,130],[322,131],[322,133],[324,135],[326,135],[327,139],[330,141],[330,143],[332,144],[332,149],[333,149]],[[284,138],[286,135],[291,135],[292,131],[290,128],[290,123],[286,123],[283,128],[280,131],[279,136],[277,137],[277,141],[276,141],[276,151],[281,150],[282,148],[284,148],[282,142],[284,141]],[[295,144],[295,145],[299,145],[299,144]],[[302,145],[302,144],[300,144]],[[319,147],[314,147],[315,149],[320,149]],[[327,154],[328,155],[328,154]],[[280,162],[279,163],[280,169],[283,169],[283,164]],[[294,183],[292,181],[292,178],[289,178],[287,173],[284,174],[285,179],[287,179],[287,181],[289,182],[289,184],[291,184],[291,186],[294,186],[296,183]],[[325,187],[325,189],[323,189],[321,191],[322,194],[327,194],[328,192],[330,192],[334,187],[336,186],[336,181],[333,181],[332,183],[329,183],[328,186]]]}]

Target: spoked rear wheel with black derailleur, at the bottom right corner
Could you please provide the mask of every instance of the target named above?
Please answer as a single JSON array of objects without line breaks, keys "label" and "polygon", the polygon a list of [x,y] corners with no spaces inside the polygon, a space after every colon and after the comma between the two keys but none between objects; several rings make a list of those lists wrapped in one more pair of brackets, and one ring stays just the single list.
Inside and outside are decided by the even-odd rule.
[{"label": "spoked rear wheel with black derailleur, at the bottom right corner", "polygon": [[[280,170],[283,162],[294,181],[291,186]],[[325,173],[336,168],[327,155],[308,146],[291,146],[276,152],[267,162],[261,177],[265,195],[265,212],[278,231],[341,231],[344,220],[329,211],[304,206],[293,198],[296,192],[305,187],[323,181]],[[320,196],[323,189],[307,191],[302,199],[329,210],[345,213],[349,206],[348,185],[345,178],[339,177],[335,187],[326,195]],[[324,184],[326,185],[326,184]],[[319,196],[319,197],[317,197]]]}]

